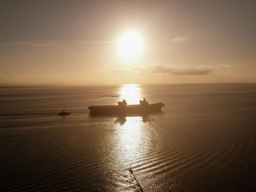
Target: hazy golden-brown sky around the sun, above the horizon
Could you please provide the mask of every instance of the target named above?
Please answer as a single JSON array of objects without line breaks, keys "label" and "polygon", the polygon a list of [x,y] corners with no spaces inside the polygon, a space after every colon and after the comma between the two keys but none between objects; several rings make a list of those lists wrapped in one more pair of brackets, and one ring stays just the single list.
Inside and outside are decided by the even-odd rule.
[{"label": "hazy golden-brown sky around the sun, above the horizon", "polygon": [[[256,82],[256,1],[1,0],[0,84]],[[137,31],[143,53],[118,55]]]}]

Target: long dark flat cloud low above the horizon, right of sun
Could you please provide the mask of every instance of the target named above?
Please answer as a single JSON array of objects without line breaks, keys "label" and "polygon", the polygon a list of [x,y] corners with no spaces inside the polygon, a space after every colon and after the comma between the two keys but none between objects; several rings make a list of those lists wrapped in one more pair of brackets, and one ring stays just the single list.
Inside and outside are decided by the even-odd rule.
[{"label": "long dark flat cloud low above the horizon, right of sun", "polygon": [[174,75],[206,75],[210,74],[213,69],[206,69],[206,68],[172,68],[170,66],[165,65],[157,65],[151,69],[154,73],[162,73],[162,74],[174,74]]}]

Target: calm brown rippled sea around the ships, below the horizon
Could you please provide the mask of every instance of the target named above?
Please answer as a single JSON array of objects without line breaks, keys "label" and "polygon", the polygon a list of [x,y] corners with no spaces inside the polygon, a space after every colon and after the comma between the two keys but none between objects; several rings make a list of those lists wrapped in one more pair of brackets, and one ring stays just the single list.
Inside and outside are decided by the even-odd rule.
[{"label": "calm brown rippled sea around the ships, below the horizon", "polygon": [[[166,106],[89,115],[143,98]],[[255,114],[255,84],[2,87],[1,190],[256,191]]]}]

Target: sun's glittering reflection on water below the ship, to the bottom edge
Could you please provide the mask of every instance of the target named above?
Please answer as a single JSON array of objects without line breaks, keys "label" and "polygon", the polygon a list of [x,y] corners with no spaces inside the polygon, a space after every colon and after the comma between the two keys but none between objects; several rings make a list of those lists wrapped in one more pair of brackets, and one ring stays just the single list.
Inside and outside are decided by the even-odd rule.
[{"label": "sun's glittering reflection on water below the ship, to the bottom edge", "polygon": [[139,116],[120,118],[115,123],[115,146],[111,151],[115,159],[113,166],[118,170],[114,183],[118,186],[117,191],[141,191],[142,183],[136,169],[146,159],[150,146],[148,123],[144,123]]}]

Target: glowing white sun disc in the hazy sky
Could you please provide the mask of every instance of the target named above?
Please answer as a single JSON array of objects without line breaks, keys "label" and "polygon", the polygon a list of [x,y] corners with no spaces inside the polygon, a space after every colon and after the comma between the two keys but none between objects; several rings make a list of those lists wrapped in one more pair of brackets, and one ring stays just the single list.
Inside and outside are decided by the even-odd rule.
[{"label": "glowing white sun disc in the hazy sky", "polygon": [[135,60],[144,50],[143,38],[137,31],[127,31],[118,37],[118,55],[126,60]]}]

